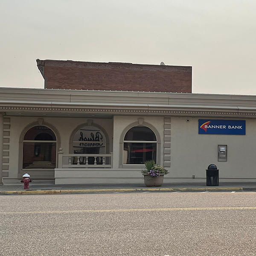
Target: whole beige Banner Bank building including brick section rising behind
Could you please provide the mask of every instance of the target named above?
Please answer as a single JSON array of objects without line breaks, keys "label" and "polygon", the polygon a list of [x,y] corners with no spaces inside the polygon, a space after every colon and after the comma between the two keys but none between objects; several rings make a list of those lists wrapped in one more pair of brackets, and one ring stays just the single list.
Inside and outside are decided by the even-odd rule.
[{"label": "whole beige Banner Bank building including brick section rising behind", "polygon": [[0,88],[3,183],[143,183],[148,159],[165,182],[204,181],[210,163],[256,180],[256,96],[191,93],[191,67],[37,62],[44,89]]}]

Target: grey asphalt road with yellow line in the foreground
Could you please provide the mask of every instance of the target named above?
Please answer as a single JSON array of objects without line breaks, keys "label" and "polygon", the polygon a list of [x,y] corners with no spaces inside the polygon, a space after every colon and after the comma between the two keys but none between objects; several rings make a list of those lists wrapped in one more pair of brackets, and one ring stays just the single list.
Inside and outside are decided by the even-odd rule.
[{"label": "grey asphalt road with yellow line in the foreground", "polygon": [[0,196],[3,256],[256,255],[256,193]]}]

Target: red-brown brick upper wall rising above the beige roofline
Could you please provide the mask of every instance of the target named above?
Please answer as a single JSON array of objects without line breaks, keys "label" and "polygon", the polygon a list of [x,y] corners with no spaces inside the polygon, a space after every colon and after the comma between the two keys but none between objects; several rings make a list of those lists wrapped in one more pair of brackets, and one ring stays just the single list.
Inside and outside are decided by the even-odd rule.
[{"label": "red-brown brick upper wall rising above the beige roofline", "polygon": [[37,59],[48,89],[192,92],[192,67]]}]

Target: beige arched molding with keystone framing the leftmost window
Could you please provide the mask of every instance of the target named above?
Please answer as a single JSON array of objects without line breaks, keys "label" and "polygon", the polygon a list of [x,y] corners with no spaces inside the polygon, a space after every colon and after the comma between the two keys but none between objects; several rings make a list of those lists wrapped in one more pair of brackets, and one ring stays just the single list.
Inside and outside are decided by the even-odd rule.
[{"label": "beige arched molding with keystone framing the leftmost window", "polygon": [[[61,137],[60,137],[60,135],[58,133],[58,130],[53,125],[51,125],[48,122],[44,122],[43,119],[38,119],[38,122],[32,122],[29,125],[27,125],[23,129],[21,134],[20,134],[20,141],[19,141],[19,144],[20,144],[20,150],[19,150],[19,169],[18,169],[18,175],[20,177],[21,177],[22,172],[24,170],[27,170],[27,169],[22,169],[22,164],[23,164],[23,140],[24,140],[24,137],[25,137],[27,131],[29,131],[29,129],[31,129],[31,128],[35,127],[35,126],[38,126],[38,125],[46,126],[47,128],[51,129],[52,132],[55,134],[55,137],[56,137],[56,168],[58,168],[58,149],[61,147]],[[30,170],[33,170],[33,169],[30,169]],[[36,169],[36,170],[38,170],[38,169]],[[44,170],[47,170],[47,169],[44,169]]]}]

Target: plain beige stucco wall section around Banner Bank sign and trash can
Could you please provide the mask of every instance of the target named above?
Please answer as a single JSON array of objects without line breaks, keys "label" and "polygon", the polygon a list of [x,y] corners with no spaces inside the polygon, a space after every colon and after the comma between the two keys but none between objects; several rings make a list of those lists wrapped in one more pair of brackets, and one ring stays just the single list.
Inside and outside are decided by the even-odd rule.
[{"label": "plain beige stucco wall section around Banner Bank sign and trash can", "polygon": [[[198,134],[198,119],[171,117],[171,172],[168,177],[192,178],[195,175],[205,179],[205,169],[214,163],[220,178],[256,178],[256,120],[243,119],[246,120],[246,135],[215,135]],[[227,162],[218,162],[218,144],[227,144]]]}]

